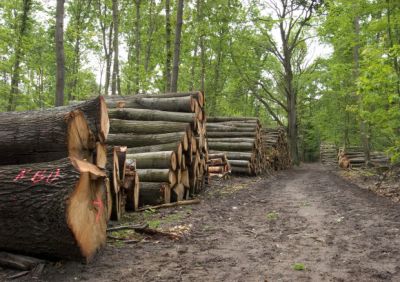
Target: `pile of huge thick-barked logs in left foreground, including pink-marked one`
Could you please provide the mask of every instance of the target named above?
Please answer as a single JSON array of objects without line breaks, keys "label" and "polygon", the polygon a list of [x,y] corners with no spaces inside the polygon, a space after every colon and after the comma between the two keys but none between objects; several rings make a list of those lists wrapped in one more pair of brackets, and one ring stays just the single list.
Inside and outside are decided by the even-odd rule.
[{"label": "pile of huge thick-barked logs in left foreground, including pink-marked one", "polygon": [[102,97],[0,113],[0,249],[87,261],[105,244],[108,129]]}]

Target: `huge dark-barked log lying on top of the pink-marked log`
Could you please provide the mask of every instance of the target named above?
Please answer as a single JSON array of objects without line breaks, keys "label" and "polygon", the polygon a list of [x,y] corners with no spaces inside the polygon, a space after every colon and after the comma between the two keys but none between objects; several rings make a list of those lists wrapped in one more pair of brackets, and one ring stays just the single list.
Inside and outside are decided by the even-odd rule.
[{"label": "huge dark-barked log lying on top of the pink-marked log", "polygon": [[0,113],[0,165],[76,157],[92,161],[94,136],[80,111]]}]

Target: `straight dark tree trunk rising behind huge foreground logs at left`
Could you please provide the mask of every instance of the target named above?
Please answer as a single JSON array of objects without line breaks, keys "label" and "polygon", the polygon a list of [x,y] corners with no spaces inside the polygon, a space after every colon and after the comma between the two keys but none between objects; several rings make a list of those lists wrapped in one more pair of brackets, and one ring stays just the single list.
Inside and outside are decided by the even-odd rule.
[{"label": "straight dark tree trunk rising behind huge foreground logs at left", "polygon": [[57,0],[56,10],[56,107],[64,105],[65,57],[64,57],[64,0]]}]

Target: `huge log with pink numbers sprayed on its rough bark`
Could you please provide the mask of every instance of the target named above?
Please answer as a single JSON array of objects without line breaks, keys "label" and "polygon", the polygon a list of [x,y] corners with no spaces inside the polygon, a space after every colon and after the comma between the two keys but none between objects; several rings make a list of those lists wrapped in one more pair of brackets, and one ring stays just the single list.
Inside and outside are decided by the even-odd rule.
[{"label": "huge log with pink numbers sprayed on its rough bark", "polygon": [[0,167],[0,248],[90,260],[106,240],[105,174],[66,158]]}]

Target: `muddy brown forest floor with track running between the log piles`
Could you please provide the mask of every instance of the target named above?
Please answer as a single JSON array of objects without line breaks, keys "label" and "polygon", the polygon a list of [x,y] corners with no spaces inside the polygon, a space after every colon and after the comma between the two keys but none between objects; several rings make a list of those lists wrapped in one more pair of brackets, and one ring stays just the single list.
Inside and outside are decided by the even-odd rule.
[{"label": "muddy brown forest floor with track running between the log piles", "polygon": [[90,264],[51,263],[40,280],[400,281],[400,205],[319,164],[216,181],[201,198],[129,216],[181,239],[109,242]]}]

